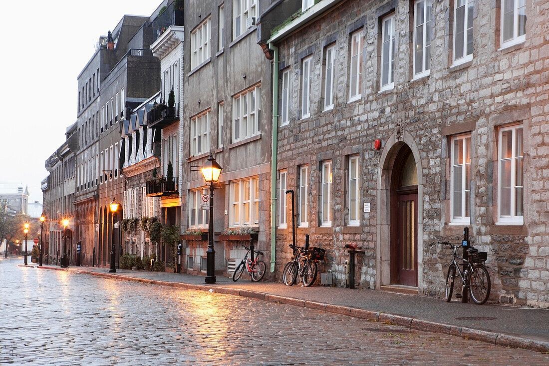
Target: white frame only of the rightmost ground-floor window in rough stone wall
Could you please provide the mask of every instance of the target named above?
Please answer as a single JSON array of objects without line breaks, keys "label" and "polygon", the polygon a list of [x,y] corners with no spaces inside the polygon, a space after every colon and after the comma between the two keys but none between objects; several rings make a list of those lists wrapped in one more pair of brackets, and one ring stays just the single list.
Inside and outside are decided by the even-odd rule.
[{"label": "white frame only of the rightmost ground-floor window in rough stone wall", "polygon": [[[503,133],[511,131],[511,156],[503,158]],[[520,131],[520,132],[519,132]],[[517,136],[520,133],[520,136]],[[498,223],[506,225],[522,225],[524,223],[524,135],[523,126],[514,125],[509,127],[503,127],[498,134],[498,188],[497,188],[497,206],[498,206]],[[519,138],[520,137],[520,141]],[[519,143],[518,143],[519,142]],[[521,151],[519,152],[518,149]],[[518,154],[520,153],[520,155]],[[503,169],[502,165],[508,163],[509,167],[509,214],[502,213],[502,197],[503,197]],[[518,171],[520,169],[520,171]],[[519,177],[517,177],[519,175]],[[519,178],[519,179],[518,179]],[[518,182],[520,180],[520,182]],[[520,191],[522,197],[517,197],[517,191]],[[522,215],[517,212],[517,199],[520,199],[520,206],[522,206]]]}]

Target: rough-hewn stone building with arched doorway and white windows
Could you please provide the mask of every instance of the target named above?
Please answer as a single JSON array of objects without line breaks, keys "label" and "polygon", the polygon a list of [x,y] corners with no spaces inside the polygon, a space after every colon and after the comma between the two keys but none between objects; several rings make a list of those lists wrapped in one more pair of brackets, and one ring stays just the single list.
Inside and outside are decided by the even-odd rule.
[{"label": "rough-hewn stone building with arched doorway and white windows", "polygon": [[277,274],[291,188],[298,238],[327,249],[339,286],[356,243],[360,286],[442,296],[437,241],[467,227],[491,301],[548,307],[548,2],[272,3]]}]

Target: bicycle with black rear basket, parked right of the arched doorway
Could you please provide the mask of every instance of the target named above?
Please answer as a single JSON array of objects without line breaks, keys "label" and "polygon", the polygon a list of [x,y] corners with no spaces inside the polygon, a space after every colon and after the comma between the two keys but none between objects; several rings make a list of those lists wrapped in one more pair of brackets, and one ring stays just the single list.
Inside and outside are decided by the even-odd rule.
[{"label": "bicycle with black rear basket, parked right of the arched doorway", "polygon": [[[456,277],[460,277],[462,281],[461,296],[464,295],[464,291],[469,290],[471,298],[477,304],[484,304],[490,296],[490,274],[488,268],[483,264],[487,258],[486,252],[479,252],[478,249],[468,248],[468,259],[464,259],[457,255],[458,246],[453,245],[447,241],[439,241],[440,244],[449,245],[453,248],[452,261],[448,268],[448,274],[446,276],[446,288],[445,288],[445,300],[450,302],[452,299],[453,285]],[[465,248],[463,250],[466,250]],[[457,259],[466,266],[462,271],[460,265],[457,263]],[[457,275],[456,275],[457,269]],[[456,297],[458,297],[456,295]]]}]

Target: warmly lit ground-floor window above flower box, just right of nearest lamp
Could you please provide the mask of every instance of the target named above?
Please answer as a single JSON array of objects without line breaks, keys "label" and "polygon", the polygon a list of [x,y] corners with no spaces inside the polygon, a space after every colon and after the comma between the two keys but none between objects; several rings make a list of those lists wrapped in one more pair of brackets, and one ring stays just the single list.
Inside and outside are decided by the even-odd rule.
[{"label": "warmly lit ground-floor window above flower box, just right of nearest lamp", "polygon": [[231,226],[259,223],[259,178],[231,182]]}]

